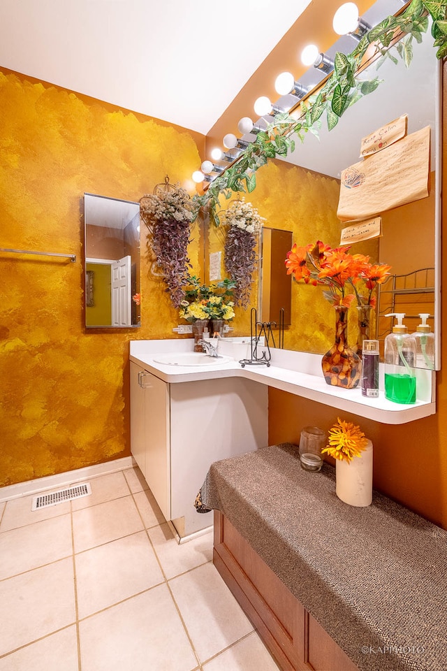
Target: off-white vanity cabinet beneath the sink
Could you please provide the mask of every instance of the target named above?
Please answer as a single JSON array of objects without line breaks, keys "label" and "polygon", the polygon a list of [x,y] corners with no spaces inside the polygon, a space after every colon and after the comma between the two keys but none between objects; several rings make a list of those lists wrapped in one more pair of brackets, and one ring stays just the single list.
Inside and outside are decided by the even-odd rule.
[{"label": "off-white vanity cabinet beneath the sink", "polygon": [[238,377],[170,384],[130,366],[131,452],[183,538],[212,526],[194,507],[212,462],[268,444],[268,388]]}]

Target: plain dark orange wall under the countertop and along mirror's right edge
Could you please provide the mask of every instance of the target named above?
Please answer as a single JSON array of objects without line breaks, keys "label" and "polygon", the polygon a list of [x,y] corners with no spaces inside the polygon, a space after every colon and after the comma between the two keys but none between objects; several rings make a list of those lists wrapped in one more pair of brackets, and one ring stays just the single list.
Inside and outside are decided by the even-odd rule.
[{"label": "plain dark orange wall under the countertop and along mirror's right edge", "polygon": [[[443,191],[447,192],[447,64],[444,64],[444,150]],[[442,205],[446,220],[447,200]],[[447,236],[442,240],[441,284],[447,286]],[[444,296],[444,295],[443,295]],[[445,297],[442,308],[446,307]],[[445,323],[445,317],[444,317]],[[447,361],[447,339],[441,343],[441,360]],[[356,415],[342,418],[359,424],[374,443],[374,486],[391,498],[447,528],[447,381],[444,371],[437,374],[437,414],[410,424],[378,424]],[[312,403],[291,394],[270,389],[269,440],[298,442],[300,430],[315,424],[328,430],[337,421],[329,406]]]}]

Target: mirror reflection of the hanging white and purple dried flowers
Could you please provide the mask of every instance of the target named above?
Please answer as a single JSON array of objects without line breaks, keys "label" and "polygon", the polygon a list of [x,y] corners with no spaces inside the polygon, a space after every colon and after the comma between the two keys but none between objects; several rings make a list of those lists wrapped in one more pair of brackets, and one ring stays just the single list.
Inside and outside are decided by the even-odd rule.
[{"label": "mirror reflection of the hanging white and purple dried flowers", "polygon": [[257,265],[256,247],[259,232],[265,222],[258,210],[242,198],[226,210],[223,223],[228,227],[225,238],[225,269],[236,282],[233,290],[235,305],[247,308],[251,281]]}]

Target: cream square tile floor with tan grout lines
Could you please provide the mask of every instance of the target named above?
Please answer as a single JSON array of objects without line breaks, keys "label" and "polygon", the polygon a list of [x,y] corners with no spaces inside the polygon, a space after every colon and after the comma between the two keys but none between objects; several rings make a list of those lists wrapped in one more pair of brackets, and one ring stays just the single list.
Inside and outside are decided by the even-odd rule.
[{"label": "cream square tile floor with tan grout lines", "polygon": [[212,533],[177,544],[138,468],[89,482],[0,504],[0,671],[277,671]]}]

